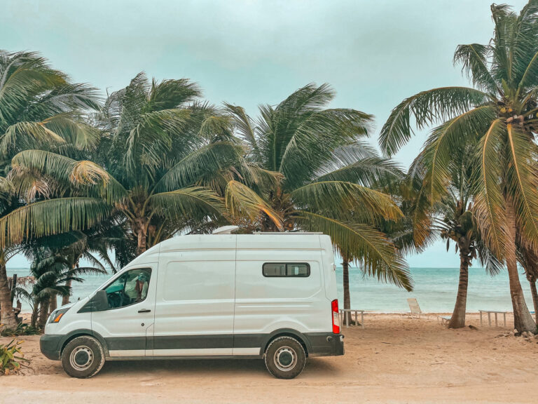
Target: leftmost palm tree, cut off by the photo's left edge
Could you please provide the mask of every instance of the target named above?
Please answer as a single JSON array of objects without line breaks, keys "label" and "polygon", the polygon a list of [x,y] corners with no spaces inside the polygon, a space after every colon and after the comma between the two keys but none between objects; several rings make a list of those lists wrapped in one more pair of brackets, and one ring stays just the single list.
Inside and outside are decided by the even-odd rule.
[{"label": "leftmost palm tree, cut off by the photo's left edge", "polygon": [[[24,149],[91,149],[98,133],[81,119],[81,112],[95,107],[93,88],[71,83],[36,53],[0,50],[0,323],[7,328],[15,327],[16,320],[7,287],[5,248],[24,238],[23,228],[32,233],[25,223],[17,222],[28,210],[16,210],[20,201],[5,178],[11,157]],[[26,180],[32,182],[32,176]],[[6,227],[8,222],[11,225]],[[14,227],[18,230],[11,233]]]}]

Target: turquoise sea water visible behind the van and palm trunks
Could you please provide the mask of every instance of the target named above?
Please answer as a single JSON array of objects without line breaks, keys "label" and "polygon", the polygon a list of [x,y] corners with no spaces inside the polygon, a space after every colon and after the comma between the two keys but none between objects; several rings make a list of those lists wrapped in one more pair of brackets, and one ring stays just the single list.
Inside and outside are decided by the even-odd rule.
[{"label": "turquoise sea water visible behind the van and palm trunks", "polygon": [[[25,276],[27,269],[8,269],[8,276],[18,274]],[[398,312],[409,311],[408,297],[416,297],[420,308],[425,312],[452,311],[457,293],[458,268],[411,268],[415,281],[415,290],[396,288],[394,285],[380,283],[374,278],[364,277],[356,268],[350,269],[350,293],[352,309],[368,311]],[[79,297],[85,297],[104,283],[111,275],[89,275],[83,283],[73,284],[71,302]],[[343,302],[342,268],[336,269],[338,281],[338,300]],[[524,275],[520,275],[521,285],[525,292],[527,305],[532,308],[529,283]],[[23,302],[23,309],[29,310],[29,305]],[[467,311],[479,309],[511,311],[511,300],[508,274],[503,271],[497,276],[489,276],[481,268],[469,269],[469,292]]]}]

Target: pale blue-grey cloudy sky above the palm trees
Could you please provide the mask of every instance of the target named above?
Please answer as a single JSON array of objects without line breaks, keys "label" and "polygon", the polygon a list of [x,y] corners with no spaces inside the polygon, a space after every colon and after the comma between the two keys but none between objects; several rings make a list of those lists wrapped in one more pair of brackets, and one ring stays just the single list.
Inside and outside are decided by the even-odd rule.
[{"label": "pale blue-grey cloudy sky above the palm trees", "polygon": [[[139,72],[188,78],[213,102],[256,116],[305,84],[329,83],[331,107],[375,116],[377,136],[404,98],[467,86],[453,53],[488,43],[492,0],[2,0],[0,49],[35,50],[102,94]],[[516,11],[526,1],[509,2]],[[405,168],[427,137],[394,158]],[[458,267],[444,243],[408,257],[411,267]],[[14,257],[8,267],[25,267]]]}]

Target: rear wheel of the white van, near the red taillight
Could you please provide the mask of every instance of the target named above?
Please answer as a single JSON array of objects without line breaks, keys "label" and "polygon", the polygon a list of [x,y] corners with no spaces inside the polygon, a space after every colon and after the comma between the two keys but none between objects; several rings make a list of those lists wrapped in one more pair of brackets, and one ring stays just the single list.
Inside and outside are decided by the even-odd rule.
[{"label": "rear wheel of the white van, near the red taillight", "polygon": [[265,349],[265,366],[277,379],[297,377],[305,363],[305,349],[294,337],[275,338]]}]

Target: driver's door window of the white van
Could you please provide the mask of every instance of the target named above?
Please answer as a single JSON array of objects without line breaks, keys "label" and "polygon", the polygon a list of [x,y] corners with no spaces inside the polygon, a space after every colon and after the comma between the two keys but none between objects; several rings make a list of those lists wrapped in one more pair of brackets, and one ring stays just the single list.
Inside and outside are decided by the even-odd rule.
[{"label": "driver's door window of the white van", "polygon": [[116,278],[104,289],[109,309],[118,309],[146,299],[150,278],[150,268],[131,269]]}]

